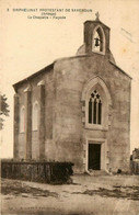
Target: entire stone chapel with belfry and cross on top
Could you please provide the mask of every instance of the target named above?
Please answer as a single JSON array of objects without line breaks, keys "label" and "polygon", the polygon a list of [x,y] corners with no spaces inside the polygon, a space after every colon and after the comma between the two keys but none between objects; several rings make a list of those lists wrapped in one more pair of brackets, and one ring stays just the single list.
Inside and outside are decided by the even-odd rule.
[{"label": "entire stone chapel with belfry and cross on top", "polygon": [[76,56],[13,86],[14,159],[129,170],[131,78],[115,63],[109,32],[99,16],[86,21]]}]

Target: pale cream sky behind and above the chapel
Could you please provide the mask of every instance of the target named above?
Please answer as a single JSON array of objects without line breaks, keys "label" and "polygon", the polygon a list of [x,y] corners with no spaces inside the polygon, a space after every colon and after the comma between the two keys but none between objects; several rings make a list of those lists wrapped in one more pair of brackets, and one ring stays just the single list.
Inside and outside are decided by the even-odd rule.
[{"label": "pale cream sky behind and above the chapel", "polygon": [[[40,9],[61,12],[36,19],[43,15]],[[83,44],[83,23],[95,20],[97,11],[100,20],[111,27],[111,50],[117,66],[132,77],[130,150],[139,147],[139,1],[0,0],[0,92],[8,97],[10,105],[10,116],[0,133],[0,157],[13,156],[12,84],[55,59],[74,56]]]}]

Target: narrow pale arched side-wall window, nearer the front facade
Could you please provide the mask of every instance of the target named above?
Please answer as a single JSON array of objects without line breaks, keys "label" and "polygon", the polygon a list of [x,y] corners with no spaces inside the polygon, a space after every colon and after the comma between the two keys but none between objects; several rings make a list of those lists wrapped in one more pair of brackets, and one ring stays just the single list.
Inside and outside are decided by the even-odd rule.
[{"label": "narrow pale arched side-wall window, nearer the front facade", "polygon": [[33,131],[38,129],[38,103],[33,104]]}]

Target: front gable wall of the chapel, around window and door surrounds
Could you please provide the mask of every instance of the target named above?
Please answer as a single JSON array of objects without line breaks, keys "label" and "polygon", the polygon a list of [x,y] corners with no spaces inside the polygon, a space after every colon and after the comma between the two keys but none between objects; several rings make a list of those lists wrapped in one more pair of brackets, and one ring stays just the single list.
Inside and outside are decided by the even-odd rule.
[{"label": "front gable wall of the chapel, around window and door surrounds", "polygon": [[[56,104],[54,137],[57,159],[71,160],[83,171],[88,138],[107,140],[108,168],[129,170],[130,78],[99,54],[71,57],[55,64]],[[84,84],[101,77],[112,97],[111,125],[107,131],[86,129],[82,122],[81,93]]]}]

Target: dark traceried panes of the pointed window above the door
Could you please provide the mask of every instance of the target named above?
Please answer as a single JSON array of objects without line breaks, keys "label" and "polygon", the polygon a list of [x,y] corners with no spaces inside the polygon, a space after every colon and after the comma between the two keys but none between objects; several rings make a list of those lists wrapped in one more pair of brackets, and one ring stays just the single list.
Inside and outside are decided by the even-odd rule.
[{"label": "dark traceried panes of the pointed window above the door", "polygon": [[102,99],[96,90],[91,93],[89,100],[89,123],[102,124]]}]

